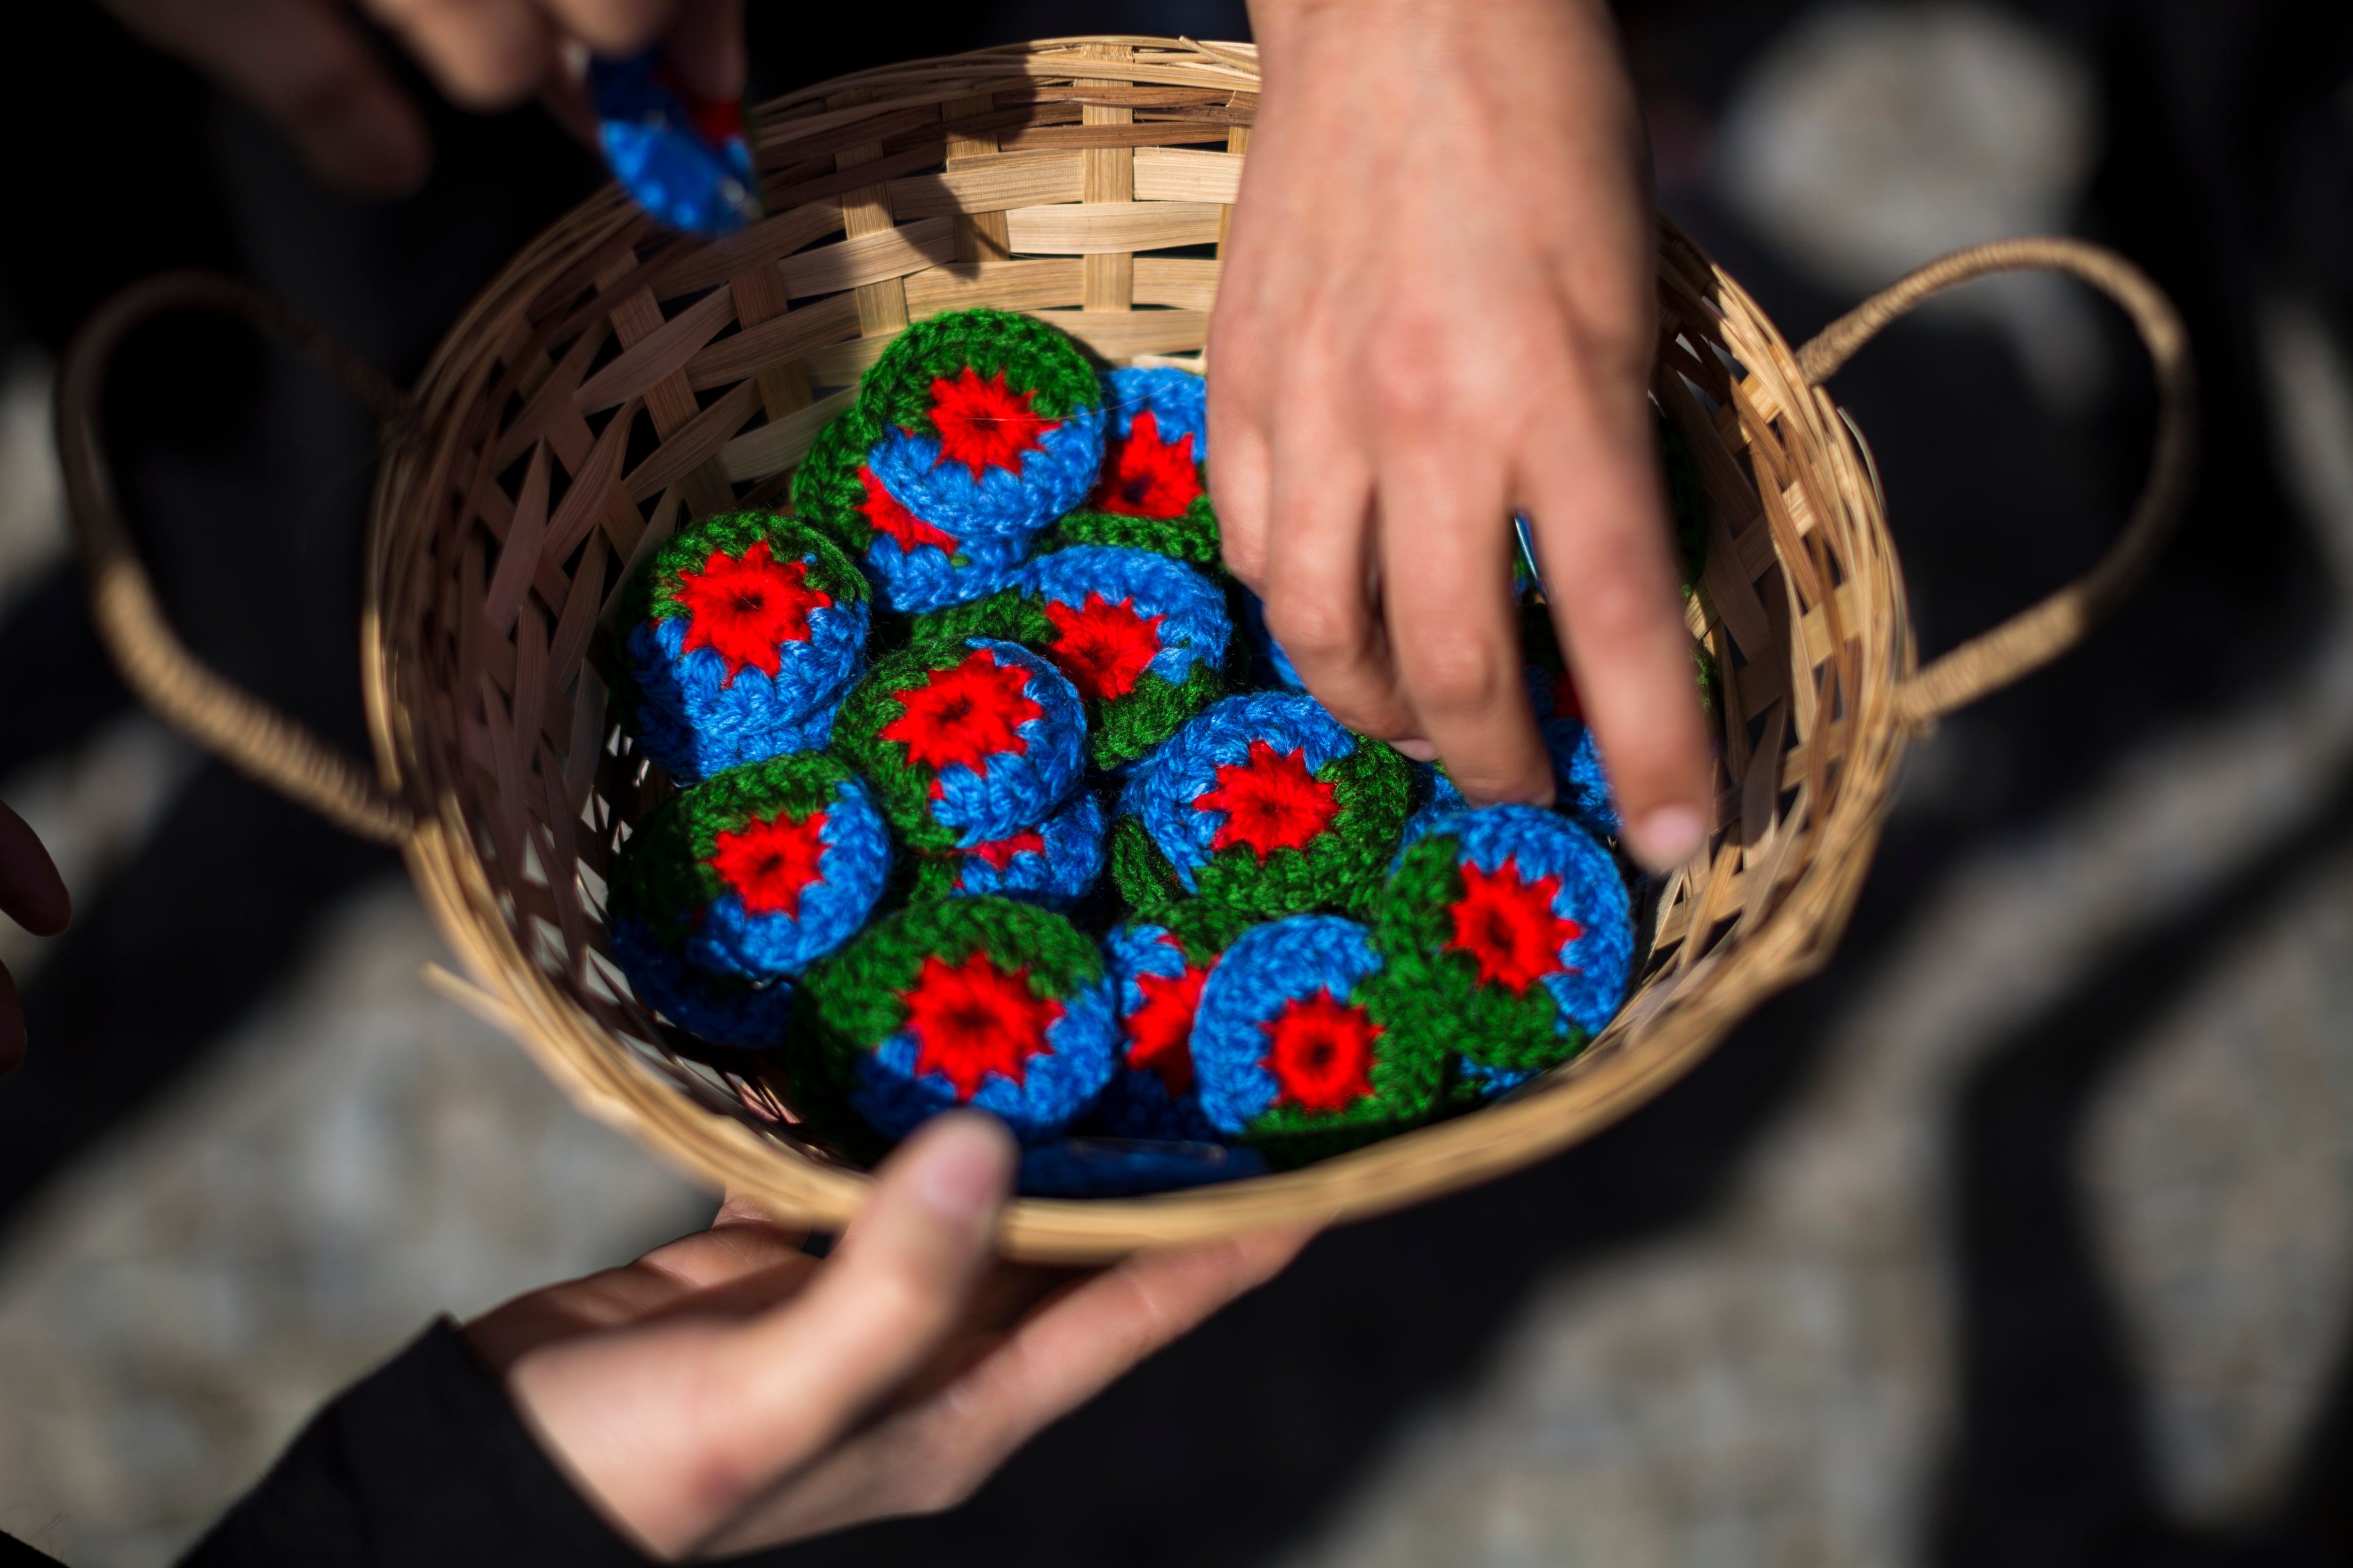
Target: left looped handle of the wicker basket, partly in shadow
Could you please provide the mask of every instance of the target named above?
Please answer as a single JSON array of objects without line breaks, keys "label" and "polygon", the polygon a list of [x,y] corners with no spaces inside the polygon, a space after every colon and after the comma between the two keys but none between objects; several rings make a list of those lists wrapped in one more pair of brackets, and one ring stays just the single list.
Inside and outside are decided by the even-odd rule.
[{"label": "left looped handle of the wicker basket, partly in shadow", "polygon": [[386,442],[407,440],[416,428],[409,395],[384,371],[252,284],[216,273],[165,273],[122,289],[73,334],[56,378],[56,449],[66,470],[66,510],[89,576],[92,621],[122,679],[167,724],[339,827],[400,844],[409,832],[409,811],[358,759],[191,654],[165,621],[155,585],[139,564],[99,440],[99,393],[122,339],[172,310],[219,310],[275,331],[365,402],[381,421]]}]

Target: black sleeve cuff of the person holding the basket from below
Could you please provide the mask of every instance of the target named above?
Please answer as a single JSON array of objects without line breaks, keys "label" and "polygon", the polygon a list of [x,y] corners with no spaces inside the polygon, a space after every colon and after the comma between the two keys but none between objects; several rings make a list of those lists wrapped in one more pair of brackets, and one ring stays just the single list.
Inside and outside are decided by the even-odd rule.
[{"label": "black sleeve cuff of the person holding the basket from below", "polygon": [[640,1568],[449,1319],[320,1410],[181,1568]]}]

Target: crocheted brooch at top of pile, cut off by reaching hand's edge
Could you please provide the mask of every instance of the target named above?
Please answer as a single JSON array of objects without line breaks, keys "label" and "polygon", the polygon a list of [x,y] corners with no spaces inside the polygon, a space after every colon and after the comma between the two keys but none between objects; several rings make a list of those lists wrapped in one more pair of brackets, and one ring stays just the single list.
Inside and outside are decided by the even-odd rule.
[{"label": "crocheted brooch at top of pile, cut off by reaching hand's edge", "polygon": [[1056,534],[1075,545],[1127,545],[1214,567],[1209,510],[1209,383],[1181,369],[1104,376],[1104,470]]}]

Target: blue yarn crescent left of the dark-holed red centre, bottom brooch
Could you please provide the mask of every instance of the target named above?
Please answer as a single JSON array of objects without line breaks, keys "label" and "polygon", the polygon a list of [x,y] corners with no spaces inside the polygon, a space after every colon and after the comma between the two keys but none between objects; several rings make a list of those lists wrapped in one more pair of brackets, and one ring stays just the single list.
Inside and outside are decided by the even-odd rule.
[{"label": "blue yarn crescent left of the dark-holed red centre, bottom brooch", "polygon": [[1325,990],[1348,1001],[1379,969],[1365,926],[1337,914],[1292,914],[1235,938],[1200,987],[1193,1016],[1193,1074],[1209,1124],[1242,1133],[1275,1105],[1275,1074],[1261,1060],[1266,1025],[1287,1001]]}]

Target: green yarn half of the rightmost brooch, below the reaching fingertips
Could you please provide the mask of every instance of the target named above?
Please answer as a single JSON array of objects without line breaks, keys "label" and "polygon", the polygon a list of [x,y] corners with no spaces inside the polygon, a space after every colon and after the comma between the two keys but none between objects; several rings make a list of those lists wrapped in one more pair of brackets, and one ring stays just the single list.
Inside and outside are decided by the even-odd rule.
[{"label": "green yarn half of the rightmost brooch, below the reaching fingertips", "polygon": [[[1412,1048],[1440,1060],[1457,1056],[1459,1041],[1478,1041],[1478,1060],[1508,1072],[1541,1072],[1586,1048],[1574,1023],[1558,1030],[1560,1009],[1541,985],[1513,994],[1504,985],[1480,985],[1478,961],[1457,952],[1454,905],[1464,898],[1461,839],[1433,832],[1398,863],[1372,922],[1384,966],[1358,985],[1365,1011]],[[1473,1105],[1475,1084],[1449,1074],[1445,1098]]]}]

